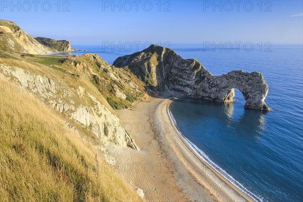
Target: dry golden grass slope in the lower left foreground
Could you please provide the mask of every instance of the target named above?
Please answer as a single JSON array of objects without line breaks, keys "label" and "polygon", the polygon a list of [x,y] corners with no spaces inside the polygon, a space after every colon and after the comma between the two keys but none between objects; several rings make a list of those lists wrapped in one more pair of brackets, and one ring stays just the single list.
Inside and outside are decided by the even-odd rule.
[{"label": "dry golden grass slope in the lower left foreground", "polygon": [[[0,77],[1,82],[8,82]],[[90,143],[24,92],[0,92],[1,201],[140,201]]]}]

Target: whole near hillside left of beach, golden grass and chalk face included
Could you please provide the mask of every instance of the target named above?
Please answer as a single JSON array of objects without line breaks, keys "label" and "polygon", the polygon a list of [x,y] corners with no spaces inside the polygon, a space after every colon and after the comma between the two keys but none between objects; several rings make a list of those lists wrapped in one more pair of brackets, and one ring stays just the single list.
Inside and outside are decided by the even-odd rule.
[{"label": "whole near hillside left of beach, golden grass and chalk face included", "polygon": [[0,60],[1,201],[142,200],[119,175],[102,170],[114,162],[107,146],[139,149],[111,107],[131,107],[144,94],[134,75],[91,54],[3,52]]}]

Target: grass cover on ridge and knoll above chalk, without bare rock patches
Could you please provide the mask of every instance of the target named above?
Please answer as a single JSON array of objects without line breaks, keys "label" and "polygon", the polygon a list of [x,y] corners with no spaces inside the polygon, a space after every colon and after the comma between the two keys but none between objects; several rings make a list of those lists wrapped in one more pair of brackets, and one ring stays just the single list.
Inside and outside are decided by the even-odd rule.
[{"label": "grass cover on ridge and knoll above chalk, without bare rock patches", "polygon": [[[137,102],[137,100],[144,96],[144,85],[140,80],[136,78],[135,75],[126,70],[105,64],[105,62],[103,61],[103,65],[106,66],[105,69],[109,72],[112,72],[116,77],[120,78],[120,82],[118,82],[108,75],[108,71],[101,70],[97,66],[98,62],[89,60],[89,58],[85,55],[78,58],[66,58],[39,57],[26,54],[21,56],[15,54],[15,56],[13,56],[12,54],[3,53],[1,56],[1,60],[3,63],[12,66],[19,66],[27,70],[30,69],[31,71],[41,72],[42,70],[43,74],[48,73],[48,75],[51,76],[55,75],[59,78],[64,77],[64,80],[66,80],[70,84],[75,83],[76,80],[76,82],[80,85],[88,86],[90,84],[88,84],[87,81],[89,81],[91,85],[94,85],[94,87],[98,89],[99,93],[101,93],[106,99],[106,101],[103,100],[101,103],[106,105],[108,109],[113,108],[115,110],[119,110],[131,108],[132,103]],[[81,64],[85,63],[87,67],[85,68],[81,66],[82,69],[78,69],[77,67],[71,64],[72,61],[77,61]],[[35,67],[27,68],[28,66]],[[49,69],[45,69],[45,67],[48,67]],[[55,72],[53,70],[58,70],[58,72]],[[95,75],[92,75],[91,71],[93,71]],[[85,76],[88,74],[88,72],[90,74],[90,77]],[[81,76],[79,77],[79,75]],[[129,87],[128,82],[130,81],[136,84],[137,91]],[[117,87],[120,88],[126,94],[126,99],[115,96],[115,88]],[[96,95],[96,97],[99,96]],[[108,107],[108,105],[110,105],[111,107]]]}]

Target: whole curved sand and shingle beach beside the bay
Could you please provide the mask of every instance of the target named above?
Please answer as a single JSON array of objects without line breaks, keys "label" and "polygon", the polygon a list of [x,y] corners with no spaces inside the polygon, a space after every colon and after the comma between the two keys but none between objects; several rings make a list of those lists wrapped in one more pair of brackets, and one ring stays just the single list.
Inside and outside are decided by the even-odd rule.
[{"label": "whole curved sand and shingle beach beside the bay", "polygon": [[[216,174],[180,138],[168,113],[175,95],[159,93],[137,103],[132,110],[117,111],[121,123],[127,123],[125,127],[135,126],[133,130],[128,127],[128,132],[140,148],[110,149],[119,162],[117,167],[143,167],[121,172],[123,177],[140,187],[147,201],[254,201]],[[144,172],[144,165],[151,170]]]}]

